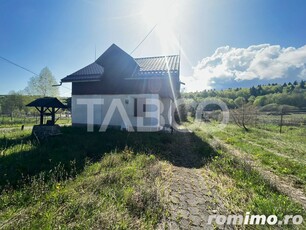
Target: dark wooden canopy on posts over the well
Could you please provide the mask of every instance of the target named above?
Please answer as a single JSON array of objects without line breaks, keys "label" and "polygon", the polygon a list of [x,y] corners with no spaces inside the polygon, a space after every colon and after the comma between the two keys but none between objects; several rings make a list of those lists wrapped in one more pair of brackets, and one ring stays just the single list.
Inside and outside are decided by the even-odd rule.
[{"label": "dark wooden canopy on posts over the well", "polygon": [[55,124],[55,114],[60,109],[66,109],[67,106],[60,102],[56,97],[43,97],[27,104],[28,107],[35,107],[40,114],[40,125],[44,123],[44,116],[51,116],[49,125]]}]

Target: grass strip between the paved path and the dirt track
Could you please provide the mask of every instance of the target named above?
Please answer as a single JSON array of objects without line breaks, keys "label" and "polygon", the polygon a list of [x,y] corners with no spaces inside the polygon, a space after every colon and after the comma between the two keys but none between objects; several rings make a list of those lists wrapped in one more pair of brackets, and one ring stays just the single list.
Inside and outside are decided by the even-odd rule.
[{"label": "grass strip between the paved path and the dirt track", "polygon": [[[204,141],[212,142],[209,131],[198,130],[196,133]],[[279,192],[256,169],[221,148],[218,148],[218,153],[219,155],[203,168],[202,175],[209,181],[207,186],[211,191],[217,191],[229,213],[277,215],[279,219],[292,214],[306,218],[305,210],[300,204]],[[306,227],[305,222],[303,226]],[[283,229],[303,226],[288,225],[283,226]],[[268,226],[263,229],[268,229]]]}]

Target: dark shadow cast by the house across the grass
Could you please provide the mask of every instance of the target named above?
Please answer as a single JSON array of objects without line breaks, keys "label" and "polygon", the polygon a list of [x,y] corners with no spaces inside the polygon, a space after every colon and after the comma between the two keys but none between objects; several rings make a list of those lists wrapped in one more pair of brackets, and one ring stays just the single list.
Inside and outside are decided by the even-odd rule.
[{"label": "dark shadow cast by the house across the grass", "polygon": [[[76,173],[83,171],[86,162],[97,162],[105,153],[117,152],[125,147],[135,153],[154,154],[161,160],[179,167],[199,168],[216,155],[209,144],[193,133],[128,133],[117,130],[86,132],[84,128],[62,127],[61,136],[44,143],[24,144],[29,136],[9,141],[12,153],[0,157],[0,191],[4,186],[18,187],[26,183],[27,177],[48,173],[61,164],[69,173],[75,161]],[[6,140],[0,139],[0,149]],[[30,150],[26,145],[31,145]]]}]

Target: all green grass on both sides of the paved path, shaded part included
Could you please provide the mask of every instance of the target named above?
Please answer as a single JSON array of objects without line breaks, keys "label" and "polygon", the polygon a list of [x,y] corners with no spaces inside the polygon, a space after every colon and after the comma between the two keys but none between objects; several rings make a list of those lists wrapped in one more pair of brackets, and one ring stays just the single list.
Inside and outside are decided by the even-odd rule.
[{"label": "all green grass on both sides of the paved path, shaded part included", "polygon": [[162,174],[171,165],[200,169],[229,213],[306,219],[301,205],[212,144],[215,136],[305,188],[305,129],[190,128],[171,135],[62,127],[43,143],[30,130],[0,130],[0,228],[154,229],[167,215]]}]

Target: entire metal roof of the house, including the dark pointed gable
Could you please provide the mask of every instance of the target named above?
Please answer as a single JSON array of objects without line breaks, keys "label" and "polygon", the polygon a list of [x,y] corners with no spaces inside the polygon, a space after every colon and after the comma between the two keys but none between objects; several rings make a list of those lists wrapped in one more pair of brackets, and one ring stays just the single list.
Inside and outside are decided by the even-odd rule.
[{"label": "entire metal roof of the house, including the dark pointed gable", "polygon": [[100,81],[102,76],[142,77],[178,76],[180,56],[133,58],[115,44],[111,45],[94,63],[68,75],[62,82]]}]

